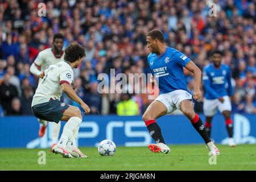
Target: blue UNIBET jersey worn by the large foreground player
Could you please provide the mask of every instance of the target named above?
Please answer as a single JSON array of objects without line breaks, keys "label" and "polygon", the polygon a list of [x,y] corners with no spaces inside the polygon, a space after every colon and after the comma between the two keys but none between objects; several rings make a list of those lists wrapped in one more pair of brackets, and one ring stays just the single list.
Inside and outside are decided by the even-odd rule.
[{"label": "blue UNIBET jersey worn by the large foreground player", "polygon": [[169,93],[174,90],[188,90],[183,73],[183,67],[190,59],[174,48],[166,47],[162,55],[150,53],[147,56],[151,73],[158,80],[160,93]]}]

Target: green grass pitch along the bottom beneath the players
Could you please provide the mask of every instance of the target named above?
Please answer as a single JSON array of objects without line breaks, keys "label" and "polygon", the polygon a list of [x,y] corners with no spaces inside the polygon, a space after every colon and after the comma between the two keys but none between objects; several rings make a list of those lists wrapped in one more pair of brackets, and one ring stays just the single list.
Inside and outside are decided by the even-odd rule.
[{"label": "green grass pitch along the bottom beneath the players", "polygon": [[[89,158],[65,159],[59,154],[49,155],[46,164],[38,164],[42,149],[1,149],[0,170],[256,170],[256,145],[229,147],[217,144],[221,155],[217,164],[209,164],[208,150],[201,145],[174,145],[170,154],[155,154],[147,147],[118,147],[114,156],[100,156],[96,147],[81,147]],[[213,160],[211,160],[213,161]]]}]

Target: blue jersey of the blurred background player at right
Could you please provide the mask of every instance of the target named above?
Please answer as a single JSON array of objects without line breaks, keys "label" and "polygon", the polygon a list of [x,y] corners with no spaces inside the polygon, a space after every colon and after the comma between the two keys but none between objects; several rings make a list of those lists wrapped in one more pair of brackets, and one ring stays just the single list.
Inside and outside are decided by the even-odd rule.
[{"label": "blue jersey of the blurred background player at right", "polygon": [[221,64],[221,67],[217,69],[213,64],[209,64],[204,68],[203,82],[205,88],[204,96],[208,100],[228,96],[226,83],[228,83],[229,95],[232,96],[234,94],[228,65]]}]

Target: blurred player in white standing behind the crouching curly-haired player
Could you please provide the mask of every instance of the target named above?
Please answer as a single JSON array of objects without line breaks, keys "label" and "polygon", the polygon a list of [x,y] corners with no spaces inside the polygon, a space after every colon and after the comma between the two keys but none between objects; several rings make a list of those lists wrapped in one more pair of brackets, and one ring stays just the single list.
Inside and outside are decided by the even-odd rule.
[{"label": "blurred player in white standing behind the crouching curly-haired player", "polygon": [[[30,67],[30,72],[39,76],[41,72],[45,71],[50,65],[64,61],[64,52],[62,50],[64,45],[64,36],[62,34],[55,34],[53,36],[53,47],[47,48],[39,52],[34,63]],[[39,78],[39,82],[42,78]],[[48,126],[48,121],[38,119],[40,122],[39,137],[43,137]],[[56,144],[59,140],[61,122],[52,123],[52,144]]]}]

